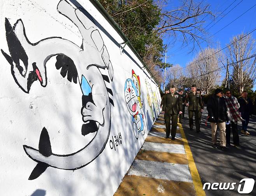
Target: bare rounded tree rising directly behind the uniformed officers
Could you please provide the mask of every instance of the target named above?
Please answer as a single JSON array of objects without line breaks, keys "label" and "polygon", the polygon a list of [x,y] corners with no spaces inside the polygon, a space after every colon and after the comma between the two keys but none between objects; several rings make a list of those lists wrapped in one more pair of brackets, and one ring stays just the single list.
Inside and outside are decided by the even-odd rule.
[{"label": "bare rounded tree rising directly behind the uniformed officers", "polygon": [[221,67],[223,56],[217,49],[206,48],[200,52],[188,66],[189,78],[206,94],[221,82]]}]

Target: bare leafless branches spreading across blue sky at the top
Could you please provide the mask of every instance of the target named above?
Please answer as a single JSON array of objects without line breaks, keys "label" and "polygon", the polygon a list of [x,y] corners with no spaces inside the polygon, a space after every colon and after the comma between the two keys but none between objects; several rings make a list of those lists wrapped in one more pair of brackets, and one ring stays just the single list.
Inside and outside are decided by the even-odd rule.
[{"label": "bare leafless branches spreading across blue sky at the top", "polygon": [[[165,3],[169,2],[160,0],[162,7],[160,15],[160,24],[156,31],[158,34],[168,34],[175,38],[181,38],[185,45],[193,43],[191,51],[195,46],[202,42],[208,42],[205,38],[206,32],[203,27],[205,17],[214,16],[210,10],[210,4],[205,4],[203,0],[182,0],[181,3],[173,10],[166,9]],[[170,5],[169,5],[170,6]]]}]

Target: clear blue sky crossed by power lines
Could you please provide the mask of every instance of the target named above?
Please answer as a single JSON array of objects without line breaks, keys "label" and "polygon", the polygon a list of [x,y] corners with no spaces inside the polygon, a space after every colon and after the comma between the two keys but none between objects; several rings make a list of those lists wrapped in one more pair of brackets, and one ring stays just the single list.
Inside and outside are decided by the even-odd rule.
[{"label": "clear blue sky crossed by power lines", "polygon": [[[233,3],[235,0],[205,0],[204,3],[211,5],[211,10],[215,14],[215,16],[219,16],[223,10],[225,10],[231,3]],[[241,2],[242,1],[242,2]],[[239,3],[239,4],[238,4]],[[238,4],[238,5],[237,5]],[[175,5],[177,5],[177,1],[170,1],[168,8],[172,9]],[[236,6],[237,5],[237,6]],[[255,5],[255,6],[254,6]],[[235,7],[236,6],[236,7]],[[254,7],[252,7],[254,6]],[[231,10],[233,7],[235,7],[233,10]],[[251,10],[247,11],[248,9]],[[231,10],[231,11],[230,11]],[[229,12],[230,11],[230,12]],[[247,12],[246,12],[247,11]],[[216,21],[218,21],[223,15],[225,15],[227,12],[229,12],[226,16],[224,16],[218,23],[214,24]],[[237,20],[235,20],[233,23],[229,24],[231,21],[236,19],[238,16],[246,12],[243,16],[239,17]],[[205,26],[207,26],[209,23],[213,21],[213,17],[206,17],[205,18]],[[217,17],[216,21],[213,21],[207,28],[212,26],[207,33],[208,36],[212,36],[217,31],[222,29],[224,26],[229,24],[226,28],[221,30],[219,33],[216,33],[216,35],[212,36],[212,46],[216,47],[216,43],[219,43],[219,47],[223,48],[226,47],[228,43],[230,43],[230,39],[238,34],[241,34],[244,32],[247,34],[252,29],[256,28],[256,1],[254,0],[236,0],[223,14],[219,17]],[[206,29],[207,29],[206,28]],[[256,38],[256,31],[254,31],[254,34],[252,33],[252,37]],[[168,44],[170,42],[169,38],[164,39],[164,43]],[[191,61],[195,56],[197,51],[194,51],[192,53],[188,53],[190,50],[185,47],[183,48],[181,46],[181,42],[176,41],[175,44],[170,44],[170,46],[167,49],[167,62],[171,64],[179,64],[180,66],[184,67],[186,64]],[[202,49],[207,47],[206,44],[202,45]],[[164,59],[163,59],[164,60]],[[254,90],[256,86],[254,86]]]}]

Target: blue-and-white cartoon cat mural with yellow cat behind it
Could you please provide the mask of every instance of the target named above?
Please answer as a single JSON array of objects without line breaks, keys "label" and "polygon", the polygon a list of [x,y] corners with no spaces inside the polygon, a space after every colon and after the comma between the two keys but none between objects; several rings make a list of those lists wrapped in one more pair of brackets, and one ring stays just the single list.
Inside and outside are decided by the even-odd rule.
[{"label": "blue-and-white cartoon cat mural with yellow cat behind it", "polygon": [[135,138],[139,138],[139,133],[145,134],[144,115],[142,113],[142,102],[140,100],[140,80],[139,76],[132,70],[132,79],[128,78],[124,85],[124,97],[127,109],[132,115],[133,133]]}]

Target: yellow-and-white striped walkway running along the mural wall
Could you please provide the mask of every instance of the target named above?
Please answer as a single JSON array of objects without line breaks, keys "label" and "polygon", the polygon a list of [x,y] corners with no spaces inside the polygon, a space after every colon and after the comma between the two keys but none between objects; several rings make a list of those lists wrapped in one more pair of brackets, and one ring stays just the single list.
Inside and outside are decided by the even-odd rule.
[{"label": "yellow-and-white striped walkway running along the mural wall", "polygon": [[182,125],[165,138],[160,114],[114,196],[205,196]]}]

